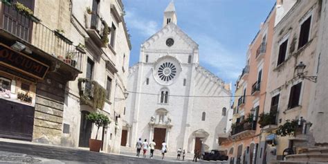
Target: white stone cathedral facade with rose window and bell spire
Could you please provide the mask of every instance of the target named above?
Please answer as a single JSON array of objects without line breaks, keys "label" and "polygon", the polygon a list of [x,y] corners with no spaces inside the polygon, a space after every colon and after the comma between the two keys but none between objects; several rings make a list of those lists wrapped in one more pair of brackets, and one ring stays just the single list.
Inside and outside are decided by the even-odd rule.
[{"label": "white stone cathedral facade with rose window and bell spire", "polygon": [[127,107],[121,145],[138,138],[165,140],[171,151],[219,149],[230,109],[230,84],[199,65],[199,46],[176,25],[171,2],[163,28],[140,46],[129,68]]}]

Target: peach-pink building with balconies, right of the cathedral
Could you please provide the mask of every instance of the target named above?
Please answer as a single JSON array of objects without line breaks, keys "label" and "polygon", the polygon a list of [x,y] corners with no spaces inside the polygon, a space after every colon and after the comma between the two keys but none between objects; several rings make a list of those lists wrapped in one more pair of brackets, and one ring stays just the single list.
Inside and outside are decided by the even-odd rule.
[{"label": "peach-pink building with balconies, right of the cathedral", "polygon": [[230,163],[257,163],[261,161],[260,154],[265,153],[261,151],[265,149],[262,140],[266,135],[262,133],[266,128],[258,122],[264,113],[274,24],[275,6],[249,45],[246,66],[237,80],[235,95],[240,97],[233,104],[233,125],[230,136],[221,143]]}]

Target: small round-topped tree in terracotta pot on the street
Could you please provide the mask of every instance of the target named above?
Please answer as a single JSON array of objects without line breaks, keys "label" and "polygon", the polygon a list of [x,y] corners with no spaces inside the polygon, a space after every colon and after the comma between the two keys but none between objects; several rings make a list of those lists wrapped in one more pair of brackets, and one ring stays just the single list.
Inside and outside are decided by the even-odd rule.
[{"label": "small round-topped tree in terracotta pot on the street", "polygon": [[95,139],[89,139],[89,147],[90,151],[93,152],[99,152],[100,148],[102,146],[102,140],[97,140],[98,138],[98,131],[100,127],[105,127],[111,123],[109,118],[102,114],[102,113],[89,113],[89,115],[86,116],[86,120],[89,120],[90,122],[94,123],[97,127],[97,133],[95,134]]}]

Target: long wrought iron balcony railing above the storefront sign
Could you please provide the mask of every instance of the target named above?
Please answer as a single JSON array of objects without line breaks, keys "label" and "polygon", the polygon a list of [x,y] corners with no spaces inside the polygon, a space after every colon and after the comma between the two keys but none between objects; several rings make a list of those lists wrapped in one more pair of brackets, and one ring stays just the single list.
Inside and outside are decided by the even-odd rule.
[{"label": "long wrought iron balcony railing above the storefront sign", "polygon": [[75,69],[82,69],[82,55],[69,39],[56,30],[17,11],[15,7],[3,4],[0,28],[23,39],[48,55],[53,55]]}]

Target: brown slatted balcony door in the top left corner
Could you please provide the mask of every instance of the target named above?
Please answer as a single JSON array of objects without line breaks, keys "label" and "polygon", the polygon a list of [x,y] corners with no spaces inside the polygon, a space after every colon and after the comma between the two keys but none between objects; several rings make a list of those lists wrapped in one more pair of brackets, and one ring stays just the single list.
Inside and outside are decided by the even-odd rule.
[{"label": "brown slatted balcony door in the top left corner", "polygon": [[[15,4],[17,2],[22,3],[27,8],[30,8],[30,10],[34,10],[34,0],[12,0],[11,3]],[[14,7],[4,5],[4,3],[2,4],[2,28],[24,39],[26,42],[30,42],[32,38],[33,21],[31,21],[29,17],[17,12]]]}]

